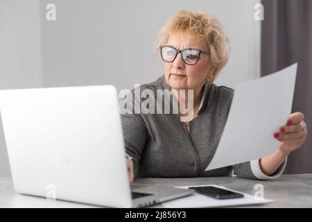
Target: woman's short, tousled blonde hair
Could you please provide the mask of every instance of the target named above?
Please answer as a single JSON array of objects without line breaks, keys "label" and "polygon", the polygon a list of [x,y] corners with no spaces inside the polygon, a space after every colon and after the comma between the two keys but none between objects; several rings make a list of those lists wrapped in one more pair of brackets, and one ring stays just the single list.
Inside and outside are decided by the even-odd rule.
[{"label": "woman's short, tousled blonde hair", "polygon": [[207,44],[210,51],[209,60],[214,68],[209,82],[214,82],[229,58],[229,38],[223,31],[220,22],[216,17],[207,13],[189,10],[177,11],[157,34],[155,51],[159,51],[160,45],[166,44],[171,34],[181,31],[197,35]]}]

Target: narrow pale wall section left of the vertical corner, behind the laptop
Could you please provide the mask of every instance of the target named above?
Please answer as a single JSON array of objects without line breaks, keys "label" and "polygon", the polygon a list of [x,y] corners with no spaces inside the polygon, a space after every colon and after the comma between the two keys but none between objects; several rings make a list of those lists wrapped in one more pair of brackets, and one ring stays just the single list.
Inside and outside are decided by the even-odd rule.
[{"label": "narrow pale wall section left of the vertical corner, behind the laptop", "polygon": [[[39,1],[0,0],[0,89],[42,87]],[[0,177],[9,177],[0,119]]]}]

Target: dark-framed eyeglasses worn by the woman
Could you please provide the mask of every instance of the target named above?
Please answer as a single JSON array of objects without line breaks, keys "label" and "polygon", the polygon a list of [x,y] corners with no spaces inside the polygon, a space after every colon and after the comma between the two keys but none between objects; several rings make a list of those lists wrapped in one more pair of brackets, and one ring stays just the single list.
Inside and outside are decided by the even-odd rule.
[{"label": "dark-framed eyeglasses worn by the woman", "polygon": [[187,65],[196,65],[200,58],[200,53],[210,54],[210,51],[200,49],[181,49],[177,50],[173,46],[160,46],[160,55],[165,62],[173,62],[177,58],[177,54],[181,53],[182,61]]}]

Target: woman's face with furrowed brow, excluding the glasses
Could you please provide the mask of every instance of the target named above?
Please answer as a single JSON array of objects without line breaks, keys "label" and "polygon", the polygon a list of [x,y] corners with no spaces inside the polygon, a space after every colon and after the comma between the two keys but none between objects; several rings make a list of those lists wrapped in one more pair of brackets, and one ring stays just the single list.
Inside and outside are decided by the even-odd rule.
[{"label": "woman's face with furrowed brow, excluding the glasses", "polygon": [[[186,32],[171,34],[166,45],[178,50],[186,48],[209,50],[196,35]],[[205,53],[200,54],[196,65],[186,65],[181,58],[181,53],[177,54],[173,62],[164,62],[166,83],[172,89],[200,90],[206,83],[210,69],[209,56]]]}]

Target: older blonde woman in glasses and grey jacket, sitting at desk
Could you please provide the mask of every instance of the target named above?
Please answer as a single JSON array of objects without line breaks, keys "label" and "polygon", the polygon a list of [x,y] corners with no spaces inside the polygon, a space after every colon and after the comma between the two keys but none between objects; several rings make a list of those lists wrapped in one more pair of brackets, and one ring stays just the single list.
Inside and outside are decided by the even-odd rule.
[{"label": "older blonde woman in glasses and grey jacket, sitting at desk", "polygon": [[295,112],[285,126],[279,126],[279,132],[272,132],[272,137],[281,142],[272,155],[205,171],[218,146],[234,93],[213,83],[227,63],[228,42],[216,18],[197,12],[176,12],[159,31],[156,45],[164,61],[164,76],[141,85],[141,89],[155,94],[159,89],[169,89],[178,103],[185,102],[180,99],[185,96],[179,96],[179,89],[193,89],[192,116],[183,121],[182,114],[122,114],[131,184],[138,177],[232,173],[241,178],[273,179],[284,171],[286,157],[304,143],[304,115]]}]

